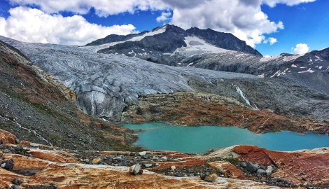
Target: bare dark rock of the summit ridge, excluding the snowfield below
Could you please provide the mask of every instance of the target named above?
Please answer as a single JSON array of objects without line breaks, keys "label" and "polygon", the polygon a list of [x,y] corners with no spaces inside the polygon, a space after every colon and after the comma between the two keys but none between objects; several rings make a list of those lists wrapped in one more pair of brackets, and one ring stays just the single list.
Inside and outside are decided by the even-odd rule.
[{"label": "bare dark rock of the summit ridge, excluding the snowfield below", "polygon": [[[152,34],[152,32],[154,32],[154,34]],[[134,36],[144,37],[131,40],[132,38],[134,38]],[[227,50],[237,50],[241,52],[251,53],[253,55],[262,56],[260,52],[246,45],[246,42],[239,40],[239,38],[233,36],[230,33],[223,33],[219,31],[214,31],[212,29],[198,29],[196,27],[184,30],[180,27],[176,27],[175,25],[165,25],[163,27],[156,27],[151,32],[143,31],[139,34],[129,34],[127,36],[109,35],[105,38],[100,38],[96,41],[92,41],[92,43],[88,43],[86,46],[104,45],[106,43],[113,43],[118,41],[127,43],[131,40],[134,42],[141,42],[129,44],[132,47],[141,45],[140,47],[145,48],[145,50],[155,50],[163,53],[172,53],[177,48],[187,46],[187,44],[184,42],[184,38],[187,36],[197,36],[199,38],[202,38],[207,43],[215,45],[218,48],[224,48]],[[122,50],[123,46],[127,47],[129,45],[120,45],[121,48],[118,46],[118,49]],[[153,46],[157,47],[153,48]]]}]

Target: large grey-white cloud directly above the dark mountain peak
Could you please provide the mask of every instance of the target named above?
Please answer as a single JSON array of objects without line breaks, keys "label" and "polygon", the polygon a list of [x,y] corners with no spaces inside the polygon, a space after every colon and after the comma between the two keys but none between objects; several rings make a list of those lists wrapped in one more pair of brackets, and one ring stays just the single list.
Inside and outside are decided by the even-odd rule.
[{"label": "large grey-white cloud directly above the dark mountain peak", "polygon": [[171,23],[184,29],[199,27],[230,32],[252,47],[265,40],[264,34],[284,28],[282,22],[268,20],[260,9],[260,1],[258,6],[240,1],[209,0],[193,8],[175,8]]}]

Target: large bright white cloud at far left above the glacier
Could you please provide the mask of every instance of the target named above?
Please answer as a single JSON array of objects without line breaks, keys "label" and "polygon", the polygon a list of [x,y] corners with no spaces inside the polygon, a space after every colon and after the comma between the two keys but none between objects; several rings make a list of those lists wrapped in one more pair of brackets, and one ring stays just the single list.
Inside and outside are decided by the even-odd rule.
[{"label": "large bright white cloud at far left above the glacier", "polygon": [[62,45],[85,45],[109,34],[130,34],[133,25],[102,27],[90,24],[80,15],[64,18],[48,15],[34,8],[10,9],[10,16],[0,18],[0,35],[19,41],[56,43]]}]

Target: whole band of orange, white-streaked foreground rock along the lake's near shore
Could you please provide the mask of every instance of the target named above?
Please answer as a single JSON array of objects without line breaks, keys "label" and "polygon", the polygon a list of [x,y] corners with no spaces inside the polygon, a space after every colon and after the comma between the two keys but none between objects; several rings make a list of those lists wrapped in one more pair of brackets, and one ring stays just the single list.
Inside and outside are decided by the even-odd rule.
[{"label": "whole band of orange, white-streaked foreground rock along the lake's near shore", "polygon": [[[329,183],[329,151],[324,148],[276,152],[232,146],[193,156],[172,151],[59,151],[28,141],[0,146],[0,188],[325,188]],[[240,167],[239,160],[258,163],[260,169],[274,164],[273,172],[257,176]],[[130,171],[138,165],[137,174]]]}]

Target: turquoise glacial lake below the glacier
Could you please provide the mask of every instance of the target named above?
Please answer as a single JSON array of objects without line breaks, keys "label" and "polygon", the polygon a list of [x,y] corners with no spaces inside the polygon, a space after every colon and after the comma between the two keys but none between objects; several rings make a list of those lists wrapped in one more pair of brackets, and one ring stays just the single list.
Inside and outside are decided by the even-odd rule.
[{"label": "turquoise glacial lake below the glacier", "polygon": [[288,131],[253,134],[238,127],[184,127],[165,123],[123,124],[123,127],[137,132],[139,140],[135,145],[150,151],[207,153],[209,149],[237,144],[255,145],[272,151],[329,147],[329,136],[323,134],[298,134]]}]

